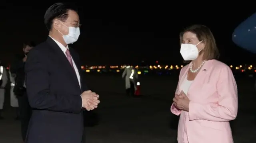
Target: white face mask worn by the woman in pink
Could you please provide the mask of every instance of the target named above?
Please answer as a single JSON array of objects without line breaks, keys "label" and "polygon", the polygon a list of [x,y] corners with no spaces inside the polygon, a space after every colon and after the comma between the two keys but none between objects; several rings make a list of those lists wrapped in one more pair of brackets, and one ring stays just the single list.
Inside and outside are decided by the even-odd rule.
[{"label": "white face mask worn by the woman in pink", "polygon": [[[202,41],[200,41],[199,43],[201,43]],[[196,45],[184,44],[184,43],[181,44],[180,54],[182,55],[182,58],[185,61],[193,61],[194,59],[196,59],[198,57],[198,53],[200,51],[202,51],[202,49],[200,51],[198,51],[198,49],[196,47],[199,43],[197,43]]]}]

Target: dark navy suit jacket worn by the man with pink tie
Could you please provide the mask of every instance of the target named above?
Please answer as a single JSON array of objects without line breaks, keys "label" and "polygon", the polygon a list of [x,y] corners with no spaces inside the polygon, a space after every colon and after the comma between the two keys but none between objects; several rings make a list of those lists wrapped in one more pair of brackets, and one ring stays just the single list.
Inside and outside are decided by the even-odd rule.
[{"label": "dark navy suit jacket worn by the man with pink tie", "polygon": [[25,65],[26,88],[33,108],[26,143],[82,143],[83,110],[80,94],[88,90],[78,54],[70,48],[74,69],[50,38],[34,47]]}]

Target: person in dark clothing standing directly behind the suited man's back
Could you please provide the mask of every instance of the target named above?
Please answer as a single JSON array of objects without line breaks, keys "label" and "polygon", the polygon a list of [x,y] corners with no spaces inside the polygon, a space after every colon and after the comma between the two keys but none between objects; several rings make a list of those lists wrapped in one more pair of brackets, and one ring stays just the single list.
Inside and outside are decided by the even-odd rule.
[{"label": "person in dark clothing standing directly behind the suited man's back", "polygon": [[24,54],[16,56],[15,60],[10,66],[10,72],[12,74],[16,74],[16,84],[13,91],[18,98],[18,104],[20,106],[21,133],[23,141],[25,141],[28,123],[32,114],[32,109],[28,103],[28,96],[26,94],[24,65],[27,60],[28,52],[34,46],[35,44],[33,42],[25,42],[23,44]]}]

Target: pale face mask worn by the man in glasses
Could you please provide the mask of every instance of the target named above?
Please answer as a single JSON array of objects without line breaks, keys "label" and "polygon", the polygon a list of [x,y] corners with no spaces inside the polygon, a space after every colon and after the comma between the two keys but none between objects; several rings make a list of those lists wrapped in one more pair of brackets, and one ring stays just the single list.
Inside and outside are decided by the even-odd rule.
[{"label": "pale face mask worn by the man in glasses", "polygon": [[[63,25],[65,25],[65,24],[63,24]],[[66,26],[66,27],[68,27],[68,26]],[[63,37],[66,44],[73,44],[74,42],[76,42],[78,40],[79,35],[80,35],[80,28],[79,27],[68,27],[68,35],[62,34],[62,37]]]}]

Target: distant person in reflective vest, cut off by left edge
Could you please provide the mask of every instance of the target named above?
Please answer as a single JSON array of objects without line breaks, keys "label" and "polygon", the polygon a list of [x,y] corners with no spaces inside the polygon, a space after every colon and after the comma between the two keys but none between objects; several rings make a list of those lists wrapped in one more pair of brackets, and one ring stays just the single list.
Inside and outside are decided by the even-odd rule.
[{"label": "distant person in reflective vest, cut off by left edge", "polygon": [[0,119],[4,119],[2,117],[2,110],[4,108],[4,94],[7,82],[8,76],[6,68],[2,65],[2,62],[0,61]]}]

